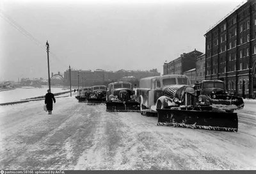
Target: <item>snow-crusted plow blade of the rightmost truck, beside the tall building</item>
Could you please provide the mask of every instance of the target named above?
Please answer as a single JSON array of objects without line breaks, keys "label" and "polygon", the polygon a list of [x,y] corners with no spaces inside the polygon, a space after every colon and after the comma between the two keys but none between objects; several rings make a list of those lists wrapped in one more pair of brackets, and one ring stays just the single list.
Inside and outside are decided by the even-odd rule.
[{"label": "snow-crusted plow blade of the rightmost truck, beside the tall building", "polygon": [[216,99],[211,99],[212,107],[216,109],[243,109],[244,101],[241,97],[217,95]]}]

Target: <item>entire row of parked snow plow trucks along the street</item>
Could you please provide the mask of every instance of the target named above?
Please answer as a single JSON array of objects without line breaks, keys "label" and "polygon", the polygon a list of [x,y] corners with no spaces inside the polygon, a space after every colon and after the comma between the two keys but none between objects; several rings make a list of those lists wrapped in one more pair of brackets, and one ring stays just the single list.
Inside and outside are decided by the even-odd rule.
[{"label": "entire row of parked snow plow trucks along the street", "polygon": [[161,75],[140,79],[140,88],[118,81],[85,88],[77,99],[105,104],[106,111],[157,115],[157,125],[216,131],[238,131],[237,109],[241,97],[228,95],[223,81],[191,84],[186,75]]}]

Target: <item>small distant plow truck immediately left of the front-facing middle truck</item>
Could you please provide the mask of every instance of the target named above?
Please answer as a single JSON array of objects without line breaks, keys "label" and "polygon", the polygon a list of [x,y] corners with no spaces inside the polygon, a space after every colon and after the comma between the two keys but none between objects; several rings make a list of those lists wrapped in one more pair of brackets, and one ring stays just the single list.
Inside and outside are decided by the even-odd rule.
[{"label": "small distant plow truck immediately left of the front-facing middle truck", "polygon": [[92,86],[92,93],[88,97],[88,105],[97,105],[106,103],[106,92],[108,88],[104,85]]}]

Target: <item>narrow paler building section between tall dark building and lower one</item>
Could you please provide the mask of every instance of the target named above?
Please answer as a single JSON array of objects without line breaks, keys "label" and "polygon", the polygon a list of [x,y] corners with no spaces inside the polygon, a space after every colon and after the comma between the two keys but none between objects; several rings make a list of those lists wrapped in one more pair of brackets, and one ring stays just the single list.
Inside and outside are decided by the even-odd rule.
[{"label": "narrow paler building section between tall dark building and lower one", "polygon": [[196,58],[196,81],[199,83],[205,79],[205,54]]}]

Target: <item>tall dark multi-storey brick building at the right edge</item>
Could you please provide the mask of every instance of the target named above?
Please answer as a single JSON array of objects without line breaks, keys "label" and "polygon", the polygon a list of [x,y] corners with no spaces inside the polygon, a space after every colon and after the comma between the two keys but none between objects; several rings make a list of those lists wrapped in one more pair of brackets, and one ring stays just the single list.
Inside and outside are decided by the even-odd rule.
[{"label": "tall dark multi-storey brick building at the right edge", "polygon": [[205,34],[205,79],[225,82],[230,93],[256,94],[256,1],[241,4]]}]

